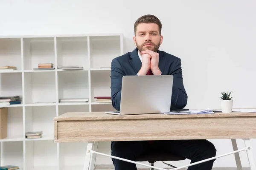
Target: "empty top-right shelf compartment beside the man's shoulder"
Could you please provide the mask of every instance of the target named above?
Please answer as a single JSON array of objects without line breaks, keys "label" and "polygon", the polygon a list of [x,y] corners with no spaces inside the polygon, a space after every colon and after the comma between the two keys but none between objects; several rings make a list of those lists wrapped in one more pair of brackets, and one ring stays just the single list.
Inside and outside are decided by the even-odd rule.
[{"label": "empty top-right shelf compartment beside the man's shoulder", "polygon": [[120,36],[91,36],[90,68],[110,68],[112,59],[121,55],[120,41]]}]

